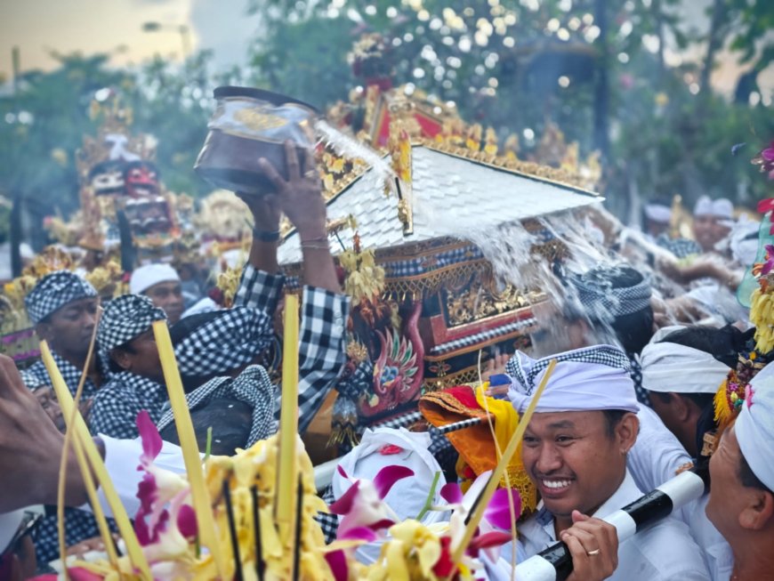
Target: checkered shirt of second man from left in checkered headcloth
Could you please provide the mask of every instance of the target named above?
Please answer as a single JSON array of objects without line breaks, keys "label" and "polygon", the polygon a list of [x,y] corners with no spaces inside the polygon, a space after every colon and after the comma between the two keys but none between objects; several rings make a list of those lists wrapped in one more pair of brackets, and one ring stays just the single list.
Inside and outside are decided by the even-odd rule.
[{"label": "checkered shirt of second man from left in checkered headcloth", "polygon": [[156,422],[166,401],[165,387],[146,377],[122,371],[110,378],[94,396],[89,427],[94,436],[131,440],[137,432],[137,415],[147,410]]}]

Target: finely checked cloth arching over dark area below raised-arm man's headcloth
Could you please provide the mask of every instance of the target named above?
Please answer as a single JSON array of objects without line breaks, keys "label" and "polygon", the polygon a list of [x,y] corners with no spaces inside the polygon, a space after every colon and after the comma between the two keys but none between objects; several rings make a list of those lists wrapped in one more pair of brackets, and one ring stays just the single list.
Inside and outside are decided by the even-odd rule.
[{"label": "finely checked cloth arching over dark area below raised-arm man's headcloth", "polygon": [[[206,407],[209,401],[218,398],[238,399],[253,409],[253,424],[244,448],[258,440],[268,438],[276,432],[277,426],[272,415],[274,408],[274,385],[269,374],[260,365],[251,365],[236,378],[215,377],[185,396],[191,411]],[[166,411],[157,422],[158,431],[174,422],[172,410]]]}]

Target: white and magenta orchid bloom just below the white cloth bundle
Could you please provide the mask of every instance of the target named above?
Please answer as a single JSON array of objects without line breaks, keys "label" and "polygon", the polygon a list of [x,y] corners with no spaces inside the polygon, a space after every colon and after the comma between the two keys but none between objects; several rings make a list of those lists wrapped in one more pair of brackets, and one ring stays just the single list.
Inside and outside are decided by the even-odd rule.
[{"label": "white and magenta orchid bloom just below the white cloth bundle", "polygon": [[336,538],[360,538],[358,535],[364,534],[370,537],[366,530],[387,529],[400,520],[383,499],[398,480],[414,476],[413,470],[406,466],[384,466],[374,480],[351,478],[341,466],[338,466],[338,471],[352,482],[352,486],[329,506],[331,512],[343,517]]}]

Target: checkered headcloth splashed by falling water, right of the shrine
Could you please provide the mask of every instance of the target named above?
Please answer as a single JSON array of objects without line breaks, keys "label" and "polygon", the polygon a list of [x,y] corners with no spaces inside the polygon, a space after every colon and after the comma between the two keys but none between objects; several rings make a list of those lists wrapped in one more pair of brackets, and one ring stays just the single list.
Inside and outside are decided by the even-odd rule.
[{"label": "checkered headcloth splashed by falling water, right of the shrine", "polygon": [[650,307],[650,283],[645,278],[634,286],[612,288],[615,270],[597,268],[582,275],[571,275],[577,297],[592,319],[630,315]]}]

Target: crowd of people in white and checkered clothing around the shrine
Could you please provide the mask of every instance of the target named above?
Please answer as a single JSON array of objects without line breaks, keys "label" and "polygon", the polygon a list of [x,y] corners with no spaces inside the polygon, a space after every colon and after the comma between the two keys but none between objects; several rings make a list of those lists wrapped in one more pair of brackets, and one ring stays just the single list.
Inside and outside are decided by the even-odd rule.
[{"label": "crowd of people in white and checkered clothing around the shrine", "polygon": [[[254,218],[253,243],[230,308],[205,301],[186,310],[197,297],[186,300],[179,273],[165,264],[134,270],[130,293],[108,303],[69,270],[41,278],[26,298],[28,317],[73,395],[85,378],[81,411],[130,515],[139,506],[142,410],[165,440],[157,463],[184,472],[155,322],[170,328],[200,448],[230,455],[277,432],[280,398],[262,355],[282,332],[275,322],[286,286],[277,258],[281,214],[298,231],[303,255],[300,432],[335,390],[346,359],[350,297],[327,244],[326,205],[313,168],[300,168],[293,148],[287,155],[289,180],[263,164],[276,193],[244,198]],[[522,514],[515,543],[481,556],[481,578],[512,578],[513,562],[557,541],[568,547],[569,578],[576,580],[774,578],[774,367],[766,365],[770,353],[756,343],[752,317],[736,300],[746,269],[760,258],[759,225],[735,217],[728,200],[709,198],[695,207],[693,239],[670,231],[668,204],[651,204],[644,214],[644,235],[632,245],[633,253],[645,254],[642,262],[626,263],[625,256],[639,259],[622,247],[614,266],[561,272],[564,295],[534,306],[528,352],[488,363],[486,397],[523,414],[556,361],[520,448],[539,503]],[[610,234],[609,224],[595,228]],[[765,278],[768,270],[758,274]],[[64,423],[51,385],[43,362],[20,370],[0,356],[2,578],[31,577],[59,556]],[[362,478],[374,478],[388,462],[426,473],[384,497],[399,518],[418,512],[430,492],[426,480],[439,467],[437,428],[432,437],[409,433],[369,431],[340,460]],[[385,442],[409,454],[385,458]],[[708,495],[619,542],[605,517],[707,462]],[[74,455],[66,481],[65,544],[83,554],[98,548],[99,531]],[[333,504],[347,490],[336,473],[320,494]],[[33,505],[44,511],[25,511]],[[340,521],[320,515],[320,522],[333,539]],[[379,552],[357,554],[374,561]]]}]

